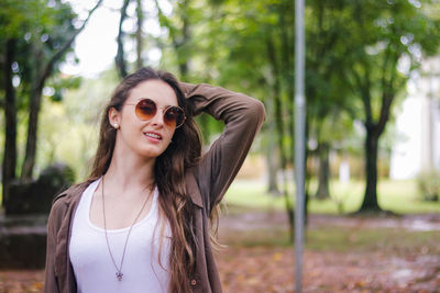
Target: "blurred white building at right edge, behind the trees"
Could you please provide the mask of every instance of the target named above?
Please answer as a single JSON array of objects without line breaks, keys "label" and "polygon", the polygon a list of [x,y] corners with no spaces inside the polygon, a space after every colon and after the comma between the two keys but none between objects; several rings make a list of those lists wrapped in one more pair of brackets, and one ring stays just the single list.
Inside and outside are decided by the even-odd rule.
[{"label": "blurred white building at right edge, behind the trees", "polygon": [[424,61],[420,74],[409,80],[396,128],[399,138],[392,151],[392,179],[440,170],[440,56]]}]

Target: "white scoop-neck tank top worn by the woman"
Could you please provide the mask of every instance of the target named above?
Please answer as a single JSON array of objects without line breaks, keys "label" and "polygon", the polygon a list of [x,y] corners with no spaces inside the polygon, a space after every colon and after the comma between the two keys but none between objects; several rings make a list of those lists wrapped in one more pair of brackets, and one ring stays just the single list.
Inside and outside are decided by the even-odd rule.
[{"label": "white scoop-neck tank top worn by the woman", "polygon": [[[160,234],[157,188],[148,214],[134,224],[122,266],[123,278],[118,281],[117,269],[107,247],[105,230],[90,222],[90,205],[100,179],[82,193],[74,216],[69,245],[78,293],[162,293],[168,292],[169,236],[166,225],[165,239],[158,262]],[[157,225],[156,225],[157,224]],[[156,227],[157,226],[157,227]],[[123,247],[130,227],[107,230],[111,252],[117,266],[121,263]]]}]

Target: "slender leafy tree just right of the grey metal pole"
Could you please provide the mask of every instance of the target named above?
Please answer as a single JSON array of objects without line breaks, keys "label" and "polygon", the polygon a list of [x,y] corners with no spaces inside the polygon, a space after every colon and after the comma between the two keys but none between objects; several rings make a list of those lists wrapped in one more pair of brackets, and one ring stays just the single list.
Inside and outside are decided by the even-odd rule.
[{"label": "slender leafy tree just right of the grey metal pole", "polygon": [[348,88],[341,81],[350,66],[341,50],[346,35],[345,9],[342,1],[312,0],[307,5],[307,125],[309,136],[317,142],[317,199],[330,198],[329,153],[348,133],[338,127],[344,125],[341,121],[343,113],[352,112]]}]

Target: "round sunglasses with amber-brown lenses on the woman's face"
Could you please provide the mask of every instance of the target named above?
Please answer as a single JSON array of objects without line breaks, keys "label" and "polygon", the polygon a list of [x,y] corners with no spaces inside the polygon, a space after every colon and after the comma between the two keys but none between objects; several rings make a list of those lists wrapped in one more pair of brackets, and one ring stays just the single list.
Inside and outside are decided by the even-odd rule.
[{"label": "round sunglasses with amber-brown lenses on the woman's face", "polygon": [[[134,112],[136,116],[142,121],[152,120],[157,114],[157,104],[155,101],[144,98],[141,99],[136,104],[127,104],[127,105],[135,105]],[[164,123],[169,127],[178,128],[180,127],[185,120],[185,112],[180,106],[168,105],[163,108]]]}]

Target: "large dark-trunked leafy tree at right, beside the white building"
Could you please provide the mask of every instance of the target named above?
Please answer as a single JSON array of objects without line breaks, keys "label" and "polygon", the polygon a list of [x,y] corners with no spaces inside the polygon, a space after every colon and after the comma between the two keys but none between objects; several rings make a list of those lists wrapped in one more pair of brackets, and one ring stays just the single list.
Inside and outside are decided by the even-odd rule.
[{"label": "large dark-trunked leafy tree at right, beside the white building", "polygon": [[[440,22],[426,12],[430,1],[356,1],[350,7],[346,59],[352,64],[348,84],[364,113],[365,196],[360,211],[380,211],[377,154],[392,106],[404,92],[421,56],[438,53]],[[350,21],[350,22],[349,22]],[[403,69],[399,65],[407,65]]]}]

